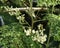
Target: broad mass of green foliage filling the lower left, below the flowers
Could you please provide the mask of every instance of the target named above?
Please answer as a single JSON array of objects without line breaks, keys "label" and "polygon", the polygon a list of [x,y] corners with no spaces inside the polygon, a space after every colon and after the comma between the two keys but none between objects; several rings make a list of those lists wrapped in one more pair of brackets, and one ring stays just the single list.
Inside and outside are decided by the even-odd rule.
[{"label": "broad mass of green foliage filling the lower left, below the flowers", "polygon": [[42,47],[38,43],[26,37],[22,25],[12,23],[0,27],[0,47],[1,48],[36,48]]}]

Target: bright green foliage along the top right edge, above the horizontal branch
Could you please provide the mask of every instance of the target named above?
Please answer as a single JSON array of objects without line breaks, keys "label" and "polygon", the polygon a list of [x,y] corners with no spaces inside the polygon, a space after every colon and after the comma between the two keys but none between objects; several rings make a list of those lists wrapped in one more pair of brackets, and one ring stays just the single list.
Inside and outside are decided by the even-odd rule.
[{"label": "bright green foliage along the top right edge, above the horizontal branch", "polygon": [[51,6],[51,5],[57,5],[60,3],[60,0],[37,0],[38,6]]}]

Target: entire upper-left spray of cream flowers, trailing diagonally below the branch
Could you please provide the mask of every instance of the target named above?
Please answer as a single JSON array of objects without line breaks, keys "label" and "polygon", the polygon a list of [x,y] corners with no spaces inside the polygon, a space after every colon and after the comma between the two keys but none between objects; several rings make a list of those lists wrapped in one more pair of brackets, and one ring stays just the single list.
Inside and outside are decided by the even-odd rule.
[{"label": "entire upper-left spray of cream flowers, trailing diagonally below the branch", "polygon": [[[25,19],[25,14],[23,14],[23,15],[21,15],[21,12],[16,8],[16,10],[14,10],[13,9],[13,6],[11,6],[10,8],[9,8],[9,6],[3,6],[3,7],[1,7],[1,8],[4,8],[6,11],[9,11],[8,13],[11,15],[11,16],[13,16],[13,15],[15,15],[16,16],[16,18],[17,18],[17,20],[19,20],[19,21],[21,21],[21,22],[24,22],[24,19]],[[20,16],[21,15],[21,16]]]}]

